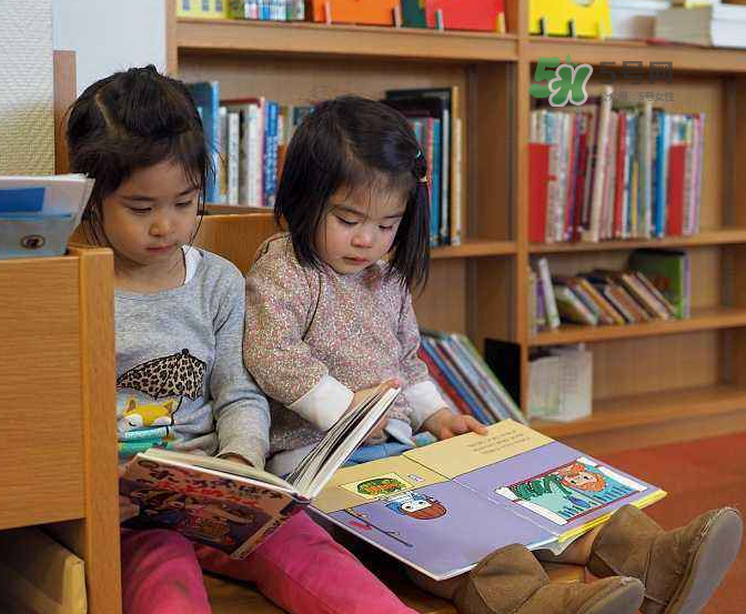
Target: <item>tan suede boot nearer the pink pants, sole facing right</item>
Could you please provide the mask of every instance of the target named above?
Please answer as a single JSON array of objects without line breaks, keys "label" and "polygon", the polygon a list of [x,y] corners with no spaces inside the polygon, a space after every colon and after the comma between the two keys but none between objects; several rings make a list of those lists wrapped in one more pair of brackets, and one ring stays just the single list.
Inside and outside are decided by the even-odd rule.
[{"label": "tan suede boot nearer the pink pants, sole facing right", "polygon": [[632,614],[642,601],[643,585],[632,577],[550,582],[536,557],[518,544],[485,556],[454,596],[461,614]]}]

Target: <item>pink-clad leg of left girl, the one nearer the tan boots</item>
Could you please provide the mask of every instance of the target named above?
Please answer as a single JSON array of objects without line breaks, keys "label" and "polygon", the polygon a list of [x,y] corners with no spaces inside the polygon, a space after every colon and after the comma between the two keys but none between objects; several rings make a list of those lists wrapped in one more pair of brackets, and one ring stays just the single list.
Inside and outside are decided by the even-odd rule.
[{"label": "pink-clad leg of left girl, the one nearer the tan boots", "polygon": [[214,548],[195,551],[204,570],[253,582],[293,614],[416,614],[305,513],[244,561]]}]

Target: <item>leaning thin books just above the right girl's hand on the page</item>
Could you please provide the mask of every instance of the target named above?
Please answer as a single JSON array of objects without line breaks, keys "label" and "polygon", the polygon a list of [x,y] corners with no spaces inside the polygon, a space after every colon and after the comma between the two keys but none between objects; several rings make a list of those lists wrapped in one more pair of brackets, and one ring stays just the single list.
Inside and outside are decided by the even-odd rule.
[{"label": "leaning thin books just above the right girl's hand on the page", "polygon": [[452,411],[482,424],[525,423],[515,401],[466,335],[422,331],[420,358]]}]

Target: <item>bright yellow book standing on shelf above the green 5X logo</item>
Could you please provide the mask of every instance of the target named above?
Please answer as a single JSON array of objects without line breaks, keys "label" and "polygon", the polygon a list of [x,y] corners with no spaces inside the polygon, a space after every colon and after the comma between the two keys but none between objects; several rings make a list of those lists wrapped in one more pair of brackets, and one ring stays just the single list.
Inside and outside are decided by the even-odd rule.
[{"label": "bright yellow book standing on shelf above the green 5X logo", "polygon": [[575,34],[578,37],[609,37],[612,20],[608,0],[530,0],[528,31],[532,34],[571,36],[571,21],[574,21]]}]

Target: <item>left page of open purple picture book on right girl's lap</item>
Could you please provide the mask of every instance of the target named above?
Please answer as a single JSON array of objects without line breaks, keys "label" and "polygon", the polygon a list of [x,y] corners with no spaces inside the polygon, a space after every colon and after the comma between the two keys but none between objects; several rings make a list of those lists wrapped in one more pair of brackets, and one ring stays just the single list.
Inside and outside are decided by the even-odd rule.
[{"label": "left page of open purple picture book on right girl's lap", "polygon": [[554,536],[511,511],[404,456],[345,467],[314,500],[327,519],[392,556],[443,580],[515,542]]}]

